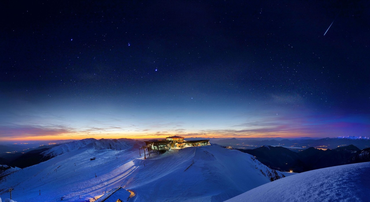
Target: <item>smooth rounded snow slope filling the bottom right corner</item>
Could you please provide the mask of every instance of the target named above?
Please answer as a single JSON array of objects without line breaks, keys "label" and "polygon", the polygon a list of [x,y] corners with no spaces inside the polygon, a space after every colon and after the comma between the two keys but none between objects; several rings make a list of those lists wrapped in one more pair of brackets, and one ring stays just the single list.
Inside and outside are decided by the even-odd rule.
[{"label": "smooth rounded snow slope filling the bottom right corner", "polygon": [[370,201],[370,162],[307,171],[264,184],[227,202]]}]

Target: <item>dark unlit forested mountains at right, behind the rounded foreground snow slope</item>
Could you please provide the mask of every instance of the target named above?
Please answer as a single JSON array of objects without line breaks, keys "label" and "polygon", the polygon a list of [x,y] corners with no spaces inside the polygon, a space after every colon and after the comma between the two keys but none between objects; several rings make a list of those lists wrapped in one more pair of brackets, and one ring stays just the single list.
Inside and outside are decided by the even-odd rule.
[{"label": "dark unlit forested mountains at right, behind the rounded foreground snow slope", "polygon": [[309,147],[298,153],[285,147],[267,145],[256,149],[238,150],[255,156],[261,163],[273,169],[281,171],[292,170],[296,173],[370,161],[370,148],[360,150],[352,144],[327,150]]}]

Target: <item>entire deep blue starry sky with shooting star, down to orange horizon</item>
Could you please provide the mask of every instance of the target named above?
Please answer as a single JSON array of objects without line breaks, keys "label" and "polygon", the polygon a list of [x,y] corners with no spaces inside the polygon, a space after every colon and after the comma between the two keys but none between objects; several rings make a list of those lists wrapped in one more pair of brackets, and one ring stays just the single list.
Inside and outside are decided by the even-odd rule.
[{"label": "entire deep blue starry sky with shooting star, down to orange horizon", "polygon": [[0,140],[370,136],[369,2],[1,1]]}]

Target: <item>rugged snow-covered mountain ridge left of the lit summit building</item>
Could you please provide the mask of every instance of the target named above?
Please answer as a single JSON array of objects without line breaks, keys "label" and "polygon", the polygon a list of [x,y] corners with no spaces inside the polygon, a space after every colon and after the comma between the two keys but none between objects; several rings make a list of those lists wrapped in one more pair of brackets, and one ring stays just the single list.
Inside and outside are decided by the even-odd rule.
[{"label": "rugged snow-covered mountain ridge left of the lit summit building", "polygon": [[[73,151],[75,149],[79,149],[81,147],[85,147],[87,145],[93,147],[94,149],[114,149],[114,150],[125,150],[129,149],[131,147],[137,147],[142,144],[141,141],[136,141],[132,139],[94,139],[94,138],[88,138],[83,140],[76,140],[68,143],[61,144],[59,146],[53,147],[47,151],[44,151],[42,154],[43,156],[48,157],[55,157],[70,151]],[[137,145],[137,146],[135,146]]]}]

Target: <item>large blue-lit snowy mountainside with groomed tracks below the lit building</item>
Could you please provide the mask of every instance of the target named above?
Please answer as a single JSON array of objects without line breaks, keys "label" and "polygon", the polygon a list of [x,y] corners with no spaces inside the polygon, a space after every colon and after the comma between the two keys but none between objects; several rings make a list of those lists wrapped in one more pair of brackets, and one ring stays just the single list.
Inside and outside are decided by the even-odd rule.
[{"label": "large blue-lit snowy mountainside with groomed tracks below the lit building", "polygon": [[282,177],[249,154],[218,146],[172,149],[144,160],[139,144],[115,150],[91,143],[96,141],[53,147],[54,154],[64,153],[2,178],[0,197],[11,187],[21,202],[88,201],[122,187],[135,192],[131,202],[225,201]]}]

